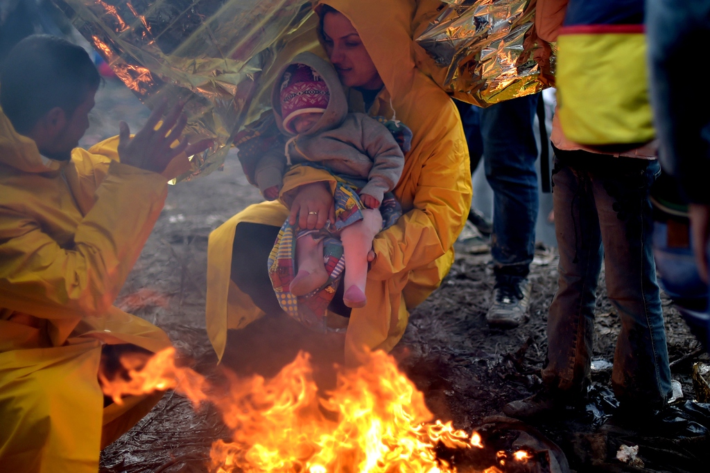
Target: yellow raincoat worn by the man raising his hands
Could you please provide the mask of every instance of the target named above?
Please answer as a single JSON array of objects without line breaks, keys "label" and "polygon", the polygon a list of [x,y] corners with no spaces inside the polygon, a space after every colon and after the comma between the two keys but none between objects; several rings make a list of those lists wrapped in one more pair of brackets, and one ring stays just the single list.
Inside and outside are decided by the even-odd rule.
[{"label": "yellow raincoat worn by the man raising his hands", "polygon": [[103,407],[102,344],[170,346],[111,306],[167,195],[118,138],[41,156],[0,110],[0,471],[97,472],[99,451],[160,399]]}]

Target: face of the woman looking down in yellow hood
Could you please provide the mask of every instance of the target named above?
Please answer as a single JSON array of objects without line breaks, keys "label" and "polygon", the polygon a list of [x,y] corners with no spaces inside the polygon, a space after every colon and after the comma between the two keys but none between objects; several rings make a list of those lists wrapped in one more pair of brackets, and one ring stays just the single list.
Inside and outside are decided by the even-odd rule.
[{"label": "face of the woman looking down in yellow hood", "polygon": [[382,79],[370,58],[360,35],[342,14],[329,12],[323,18],[325,50],[346,87],[379,90]]}]

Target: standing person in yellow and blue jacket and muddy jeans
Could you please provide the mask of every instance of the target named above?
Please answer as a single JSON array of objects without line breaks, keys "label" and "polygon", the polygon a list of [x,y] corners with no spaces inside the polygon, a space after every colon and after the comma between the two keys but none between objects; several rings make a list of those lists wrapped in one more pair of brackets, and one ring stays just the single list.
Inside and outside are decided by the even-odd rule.
[{"label": "standing person in yellow and blue jacket and muddy jeans", "polygon": [[584,406],[596,286],[606,262],[608,298],[621,318],[611,376],[618,413],[651,421],[672,386],[651,252],[649,189],[660,165],[645,80],[643,0],[540,0],[535,28],[559,47],[551,138],[559,287],[547,319],[543,389],[503,412],[527,418]]}]

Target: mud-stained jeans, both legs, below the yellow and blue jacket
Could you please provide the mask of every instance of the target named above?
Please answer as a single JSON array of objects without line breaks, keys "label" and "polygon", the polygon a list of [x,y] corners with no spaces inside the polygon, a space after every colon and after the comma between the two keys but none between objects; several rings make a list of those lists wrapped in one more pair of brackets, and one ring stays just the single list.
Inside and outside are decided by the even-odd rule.
[{"label": "mud-stained jeans, both legs, below the yellow and blue jacket", "polygon": [[652,255],[655,160],[555,150],[553,206],[559,282],[547,319],[548,389],[571,396],[590,383],[596,286],[603,258],[608,299],[621,319],[611,383],[618,401],[660,408],[670,367]]}]

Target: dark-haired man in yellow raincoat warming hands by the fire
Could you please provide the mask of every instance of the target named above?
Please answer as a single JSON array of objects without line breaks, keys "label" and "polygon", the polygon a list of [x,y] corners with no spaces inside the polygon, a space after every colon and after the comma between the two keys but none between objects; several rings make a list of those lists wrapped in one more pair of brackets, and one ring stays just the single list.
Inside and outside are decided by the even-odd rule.
[{"label": "dark-haired man in yellow raincoat warming hands by the fire", "polygon": [[102,347],[170,346],[111,304],[177,175],[166,166],[207,144],[171,148],[185,117],[175,106],[158,128],[163,105],[133,138],[121,123],[120,137],[73,149],[99,82],[82,48],[45,35],[0,74],[0,472],[96,472],[100,449],[162,395],[104,407],[97,374]]}]

